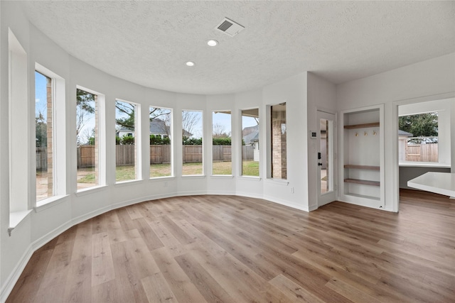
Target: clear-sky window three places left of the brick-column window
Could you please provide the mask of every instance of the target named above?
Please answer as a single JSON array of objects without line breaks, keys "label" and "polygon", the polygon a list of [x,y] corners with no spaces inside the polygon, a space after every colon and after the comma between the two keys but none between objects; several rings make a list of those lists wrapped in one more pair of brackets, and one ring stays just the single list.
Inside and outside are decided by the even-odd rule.
[{"label": "clear-sky window three places left of the brick-column window", "polygon": [[203,175],[202,111],[182,111],[182,175]]}]

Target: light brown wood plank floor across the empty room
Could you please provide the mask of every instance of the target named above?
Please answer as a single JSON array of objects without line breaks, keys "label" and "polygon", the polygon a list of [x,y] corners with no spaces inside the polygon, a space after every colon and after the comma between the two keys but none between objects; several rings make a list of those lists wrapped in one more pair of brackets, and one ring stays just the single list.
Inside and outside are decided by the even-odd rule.
[{"label": "light brown wood plank floor across the empty room", "polygon": [[306,213],[194,196],[109,211],[31,257],[7,302],[455,302],[455,201]]}]

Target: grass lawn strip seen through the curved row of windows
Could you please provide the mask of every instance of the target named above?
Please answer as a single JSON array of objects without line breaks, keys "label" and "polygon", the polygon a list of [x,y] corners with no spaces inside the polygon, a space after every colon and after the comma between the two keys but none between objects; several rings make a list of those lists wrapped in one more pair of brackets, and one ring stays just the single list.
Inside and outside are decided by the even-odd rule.
[{"label": "grass lawn strip seen through the curved row of windows", "polygon": [[[202,175],[202,163],[183,163],[183,175]],[[151,164],[150,177],[166,177],[171,175],[171,164]],[[213,175],[232,175],[232,162],[213,162]],[[242,175],[259,176],[259,162],[242,161]],[[93,168],[77,170],[77,183],[95,184],[95,171]],[[117,166],[115,180],[135,180],[134,165]]]}]

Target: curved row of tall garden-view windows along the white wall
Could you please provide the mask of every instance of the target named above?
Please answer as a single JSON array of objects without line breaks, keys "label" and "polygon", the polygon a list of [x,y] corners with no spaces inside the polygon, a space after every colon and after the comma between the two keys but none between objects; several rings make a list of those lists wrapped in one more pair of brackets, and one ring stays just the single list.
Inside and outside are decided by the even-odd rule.
[{"label": "curved row of tall garden-view windows along the white wall", "polygon": [[[68,128],[66,122],[55,123],[55,109],[64,109],[65,99],[55,99],[56,75],[37,65],[35,72],[35,129],[36,129],[36,201],[58,194],[56,159],[57,132]],[[48,73],[46,73],[48,72]],[[51,74],[51,75],[49,75]],[[63,86],[64,86],[64,82]],[[60,85],[62,85],[60,83]],[[75,96],[75,146],[77,148],[77,191],[105,184],[106,153],[104,120],[105,97],[84,87],[77,87]],[[63,104],[63,106],[62,106]],[[60,106],[60,107],[59,107]],[[140,180],[138,138],[141,136],[141,105],[116,99],[115,103],[115,180]],[[271,174],[268,177],[286,179],[286,104],[269,106]],[[173,110],[149,106],[149,176],[173,176]],[[203,175],[203,111],[181,112],[182,166],[181,175]],[[212,175],[232,175],[232,114],[229,110],[212,112]],[[112,123],[113,124],[113,123]],[[259,177],[259,109],[241,111],[240,175]],[[68,133],[67,131],[63,131]],[[142,143],[144,144],[144,143]],[[61,145],[61,144],[60,144]],[[147,157],[148,158],[148,157]],[[148,161],[148,160],[147,160]],[[240,159],[239,159],[240,162]],[[61,163],[61,162],[60,162]],[[38,203],[39,204],[39,203]]]}]

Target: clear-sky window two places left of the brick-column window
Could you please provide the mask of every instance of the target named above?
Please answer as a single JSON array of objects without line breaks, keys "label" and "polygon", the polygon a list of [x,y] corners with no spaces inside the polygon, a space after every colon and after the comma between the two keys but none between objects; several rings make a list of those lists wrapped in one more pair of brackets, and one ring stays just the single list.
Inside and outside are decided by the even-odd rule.
[{"label": "clear-sky window two places left of the brick-column window", "polygon": [[212,113],[212,174],[232,175],[230,111]]}]

